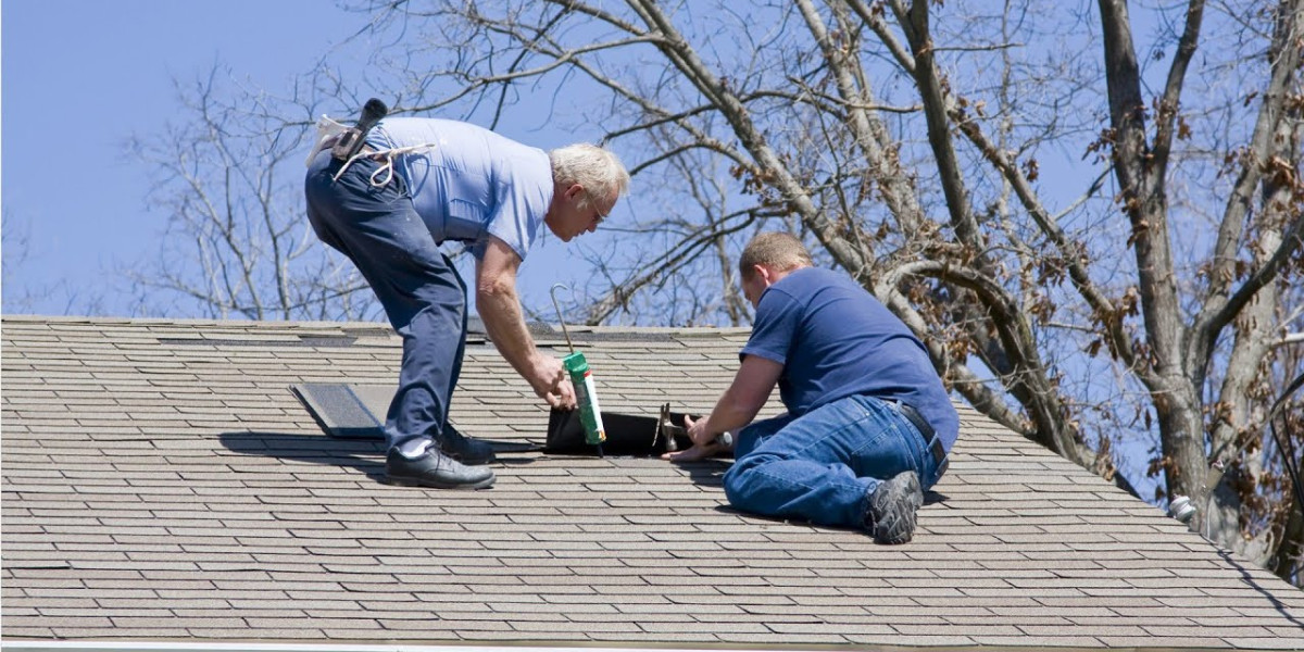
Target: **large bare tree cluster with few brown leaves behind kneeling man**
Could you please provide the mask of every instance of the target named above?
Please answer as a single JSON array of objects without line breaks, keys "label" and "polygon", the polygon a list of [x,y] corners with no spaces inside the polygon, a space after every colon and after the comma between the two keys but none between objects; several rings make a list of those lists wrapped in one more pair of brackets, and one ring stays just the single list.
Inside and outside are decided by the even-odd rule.
[{"label": "large bare tree cluster with few brown leaves behind kneeling man", "polygon": [[639,196],[588,321],[742,323],[730,253],[790,228],[977,409],[1296,572],[1265,417],[1299,373],[1299,0],[355,4],[400,111],[604,125]]}]

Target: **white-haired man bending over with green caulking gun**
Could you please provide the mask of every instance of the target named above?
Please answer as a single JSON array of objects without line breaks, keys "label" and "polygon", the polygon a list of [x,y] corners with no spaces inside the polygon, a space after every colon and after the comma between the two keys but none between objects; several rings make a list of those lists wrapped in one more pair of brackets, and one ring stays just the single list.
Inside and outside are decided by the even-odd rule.
[{"label": "white-haired man bending over with green caulking gun", "polygon": [[439,250],[466,243],[476,259],[476,309],[494,346],[535,394],[574,408],[561,360],[540,352],[516,296],[516,271],[546,226],[562,241],[592,232],[630,176],[610,151],[544,151],[452,120],[387,117],[348,160],[310,160],[308,219],[372,286],[403,338],[399,387],[385,422],[391,484],[481,489],[488,443],[449,425],[467,338],[466,284]]}]

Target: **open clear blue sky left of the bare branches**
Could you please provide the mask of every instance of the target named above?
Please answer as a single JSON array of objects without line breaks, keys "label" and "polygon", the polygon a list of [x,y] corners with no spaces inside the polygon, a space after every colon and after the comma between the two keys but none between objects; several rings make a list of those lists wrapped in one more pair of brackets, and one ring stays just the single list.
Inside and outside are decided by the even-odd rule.
[{"label": "open clear blue sky left of the bare branches", "polygon": [[177,113],[173,78],[223,61],[279,89],[359,22],[327,0],[4,0],[5,271],[26,253],[5,312],[27,299],[22,312],[63,314],[70,291],[124,314],[115,270],[156,257],[166,222],[146,210],[149,170],[124,146]]}]

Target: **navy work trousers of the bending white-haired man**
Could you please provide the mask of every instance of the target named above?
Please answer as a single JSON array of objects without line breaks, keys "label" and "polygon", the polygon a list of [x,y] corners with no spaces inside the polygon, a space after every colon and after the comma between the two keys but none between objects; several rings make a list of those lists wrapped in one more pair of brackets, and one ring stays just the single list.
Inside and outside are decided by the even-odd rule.
[{"label": "navy work trousers of the bending white-haired man", "polygon": [[317,155],[304,181],[308,220],[317,236],[347,256],[403,338],[399,389],[385,417],[389,446],[443,432],[467,342],[467,286],[412,206],[395,175],[376,188],[379,163],[342,163]]}]

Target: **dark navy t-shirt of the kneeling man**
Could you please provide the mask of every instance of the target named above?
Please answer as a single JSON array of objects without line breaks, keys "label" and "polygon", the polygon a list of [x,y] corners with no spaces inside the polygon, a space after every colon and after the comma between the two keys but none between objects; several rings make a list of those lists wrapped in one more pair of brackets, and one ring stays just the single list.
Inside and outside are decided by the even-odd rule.
[{"label": "dark navy t-shirt of the kneeling man", "polygon": [[913,406],[948,451],[960,433],[923,343],[844,274],[803,267],[765,289],[748,355],[784,365],[778,395],[793,416],[863,394]]}]

